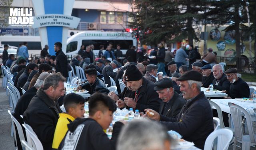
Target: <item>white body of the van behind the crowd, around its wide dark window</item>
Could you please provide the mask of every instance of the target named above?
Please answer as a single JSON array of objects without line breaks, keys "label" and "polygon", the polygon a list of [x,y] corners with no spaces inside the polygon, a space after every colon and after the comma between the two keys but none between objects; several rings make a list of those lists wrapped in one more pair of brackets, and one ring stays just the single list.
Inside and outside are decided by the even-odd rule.
[{"label": "white body of the van behind the crowd, around its wide dark window", "polygon": [[72,56],[78,54],[81,45],[94,45],[94,55],[98,56],[100,45],[104,45],[103,53],[105,52],[109,43],[113,44],[116,50],[116,45],[121,46],[123,55],[126,54],[130,45],[136,46],[136,38],[132,38],[129,32],[104,32],[104,31],[85,31],[74,34],[67,40],[66,55]]}]

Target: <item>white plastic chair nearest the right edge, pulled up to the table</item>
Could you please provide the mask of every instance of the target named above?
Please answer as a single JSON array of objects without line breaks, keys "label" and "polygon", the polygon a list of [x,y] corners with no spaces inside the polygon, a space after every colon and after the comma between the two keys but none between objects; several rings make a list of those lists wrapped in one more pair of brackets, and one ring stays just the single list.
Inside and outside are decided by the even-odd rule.
[{"label": "white plastic chair nearest the right edge, pulled up to the table", "polygon": [[[235,128],[233,150],[236,149],[237,142],[242,143],[242,150],[250,150],[250,146],[256,145],[256,138],[252,128],[252,120],[250,118],[250,114],[244,108],[242,108],[237,104],[229,102],[228,106],[230,107],[232,122]],[[242,126],[241,126],[241,122],[242,122],[241,112],[244,113],[245,115],[244,117],[246,118],[249,135],[243,135]]]}]

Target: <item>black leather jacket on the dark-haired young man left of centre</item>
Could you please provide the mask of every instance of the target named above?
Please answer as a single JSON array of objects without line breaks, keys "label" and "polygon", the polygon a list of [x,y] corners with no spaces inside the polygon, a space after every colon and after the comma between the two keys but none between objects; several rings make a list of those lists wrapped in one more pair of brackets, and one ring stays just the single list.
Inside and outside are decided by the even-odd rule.
[{"label": "black leather jacket on the dark-haired young man left of centre", "polygon": [[107,86],[104,84],[102,80],[99,80],[98,78],[96,78],[93,84],[90,84],[89,82],[85,82],[80,86],[82,86],[83,89],[88,90],[90,94],[94,94],[95,92],[100,92],[105,94],[109,93]]}]

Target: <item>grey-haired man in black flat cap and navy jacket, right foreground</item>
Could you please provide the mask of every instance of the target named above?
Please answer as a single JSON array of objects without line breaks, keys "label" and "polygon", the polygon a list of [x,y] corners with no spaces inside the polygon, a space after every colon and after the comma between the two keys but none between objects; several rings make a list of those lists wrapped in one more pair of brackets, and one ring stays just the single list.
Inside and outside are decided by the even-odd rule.
[{"label": "grey-haired man in black flat cap and navy jacket, right foreground", "polygon": [[[194,70],[186,72],[177,80],[180,81],[180,91],[183,98],[187,100],[176,118],[166,118],[160,123],[168,130],[180,133],[184,140],[194,142],[197,148],[203,149],[206,138],[213,132],[212,108],[201,92],[202,75]],[[160,120],[160,115],[153,110],[152,118]]]}]

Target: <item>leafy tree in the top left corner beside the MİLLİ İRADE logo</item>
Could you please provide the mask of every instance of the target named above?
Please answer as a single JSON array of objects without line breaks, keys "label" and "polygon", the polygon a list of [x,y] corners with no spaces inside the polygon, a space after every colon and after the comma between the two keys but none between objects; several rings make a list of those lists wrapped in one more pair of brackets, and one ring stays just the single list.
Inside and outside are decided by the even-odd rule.
[{"label": "leafy tree in the top left corner beside the M\u0130LL\u0130 \u0130RADE logo", "polygon": [[0,0],[0,26],[8,26],[8,15],[13,0]]}]

